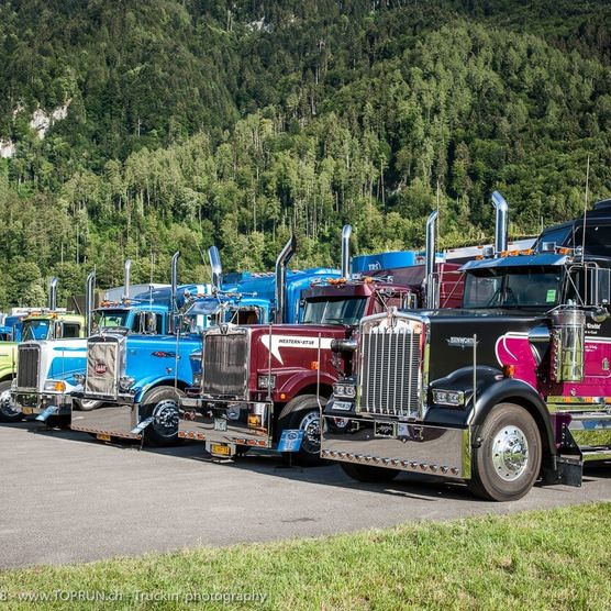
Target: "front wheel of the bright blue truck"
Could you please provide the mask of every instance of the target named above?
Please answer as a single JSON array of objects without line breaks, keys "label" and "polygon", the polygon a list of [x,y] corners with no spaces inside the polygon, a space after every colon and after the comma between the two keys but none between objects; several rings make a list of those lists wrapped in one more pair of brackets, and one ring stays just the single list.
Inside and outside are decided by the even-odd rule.
[{"label": "front wheel of the bright blue truck", "polygon": [[178,443],[178,400],[185,393],[173,386],[151,389],[142,400],[142,419],[155,420],[144,430],[144,442],[152,446]]}]

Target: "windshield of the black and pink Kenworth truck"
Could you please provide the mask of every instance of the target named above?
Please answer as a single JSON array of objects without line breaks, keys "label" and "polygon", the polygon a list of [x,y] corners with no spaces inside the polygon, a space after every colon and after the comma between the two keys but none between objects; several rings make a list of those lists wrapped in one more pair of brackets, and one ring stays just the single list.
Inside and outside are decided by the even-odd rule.
[{"label": "windshield of the black and pink Kenworth truck", "polygon": [[553,308],[562,288],[560,269],[487,269],[467,274],[464,308]]}]

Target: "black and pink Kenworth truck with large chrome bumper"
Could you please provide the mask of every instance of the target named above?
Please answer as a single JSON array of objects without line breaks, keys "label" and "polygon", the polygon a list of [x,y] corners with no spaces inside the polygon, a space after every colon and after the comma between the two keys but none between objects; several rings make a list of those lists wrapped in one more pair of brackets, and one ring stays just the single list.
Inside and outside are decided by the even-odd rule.
[{"label": "black and pink Kenworth truck with large chrome bumper", "polygon": [[[497,195],[495,195],[497,197]],[[611,458],[611,200],[533,249],[463,267],[463,309],[365,316],[321,456],[360,481],[401,471],[519,499]]]}]

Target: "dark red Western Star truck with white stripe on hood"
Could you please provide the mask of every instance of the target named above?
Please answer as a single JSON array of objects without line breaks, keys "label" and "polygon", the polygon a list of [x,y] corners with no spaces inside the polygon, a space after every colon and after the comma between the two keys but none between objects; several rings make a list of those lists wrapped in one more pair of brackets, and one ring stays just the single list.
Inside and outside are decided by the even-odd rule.
[{"label": "dark red Western Star truck with white stripe on hood", "polygon": [[[436,212],[427,223],[426,265],[351,278],[346,226],[343,278],[302,292],[300,324],[223,324],[205,332],[202,377],[181,400],[179,436],[204,438],[212,456],[231,458],[253,447],[277,449],[282,431],[300,430],[296,460],[318,463],[321,406],[338,377],[352,374],[353,335],[360,319],[391,307],[418,307],[425,277],[431,286],[442,287],[441,296],[424,289],[426,295],[462,301],[459,266],[434,267],[435,220]],[[393,274],[409,276],[410,284],[395,281]],[[278,319],[285,320],[281,311]]]}]

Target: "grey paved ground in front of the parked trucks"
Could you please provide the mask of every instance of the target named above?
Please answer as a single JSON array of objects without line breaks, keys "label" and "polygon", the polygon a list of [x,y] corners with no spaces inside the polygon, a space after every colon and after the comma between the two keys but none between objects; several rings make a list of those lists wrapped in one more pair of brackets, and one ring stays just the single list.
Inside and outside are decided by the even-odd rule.
[{"label": "grey paved ground in front of the parked trucks", "polygon": [[501,504],[415,476],[366,486],[337,465],[299,470],[271,456],[233,465],[202,456],[198,444],[140,452],[35,423],[0,425],[0,567],[611,500],[611,465],[590,468],[582,488],[535,488]]}]

